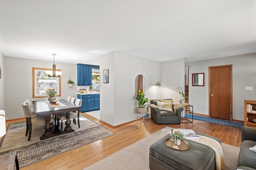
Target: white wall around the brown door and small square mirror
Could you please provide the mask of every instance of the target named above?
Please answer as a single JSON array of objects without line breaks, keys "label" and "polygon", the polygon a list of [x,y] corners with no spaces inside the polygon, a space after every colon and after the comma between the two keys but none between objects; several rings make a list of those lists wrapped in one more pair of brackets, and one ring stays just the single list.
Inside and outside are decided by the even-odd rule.
[{"label": "white wall around the brown door and small square mirror", "polygon": [[[192,86],[189,78],[189,103],[194,105],[194,113],[209,115],[208,67],[232,65],[233,73],[233,119],[244,121],[244,100],[256,100],[256,53],[186,62],[189,77],[192,73],[204,73],[204,86]],[[252,86],[253,91],[246,91]]]}]

